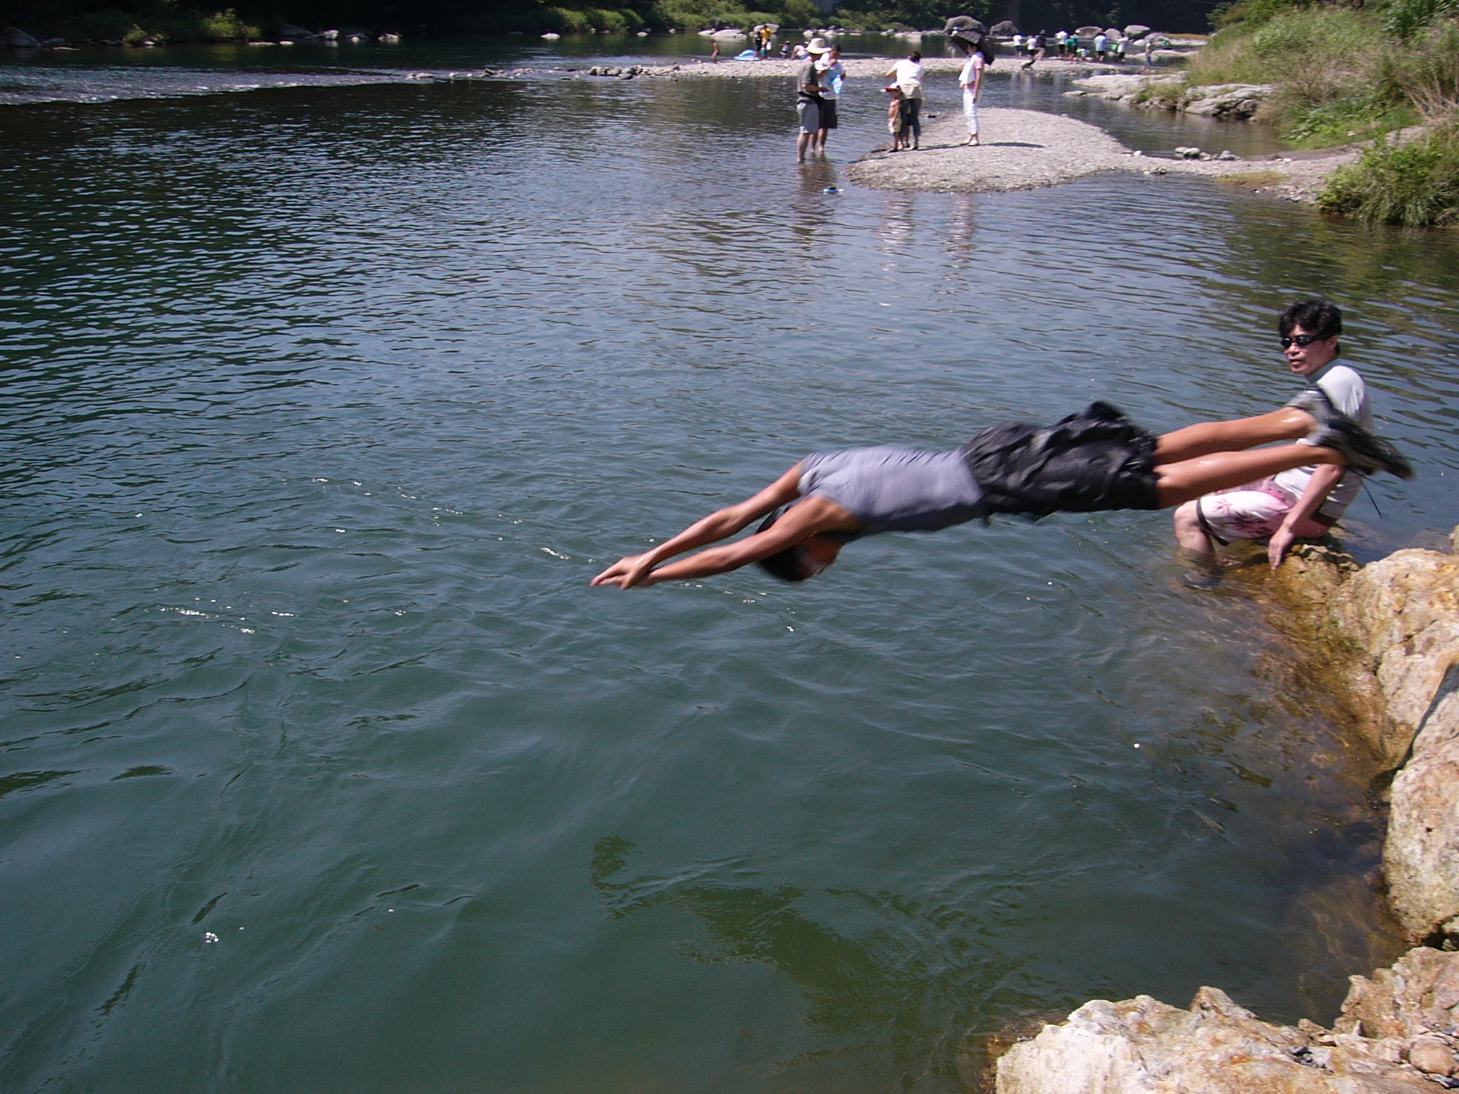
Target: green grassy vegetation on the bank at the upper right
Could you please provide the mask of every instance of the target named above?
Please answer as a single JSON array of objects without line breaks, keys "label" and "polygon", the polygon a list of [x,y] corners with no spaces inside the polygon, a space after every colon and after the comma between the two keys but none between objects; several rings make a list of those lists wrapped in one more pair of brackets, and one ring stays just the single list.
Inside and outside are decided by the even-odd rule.
[{"label": "green grassy vegetation on the bank at the upper right", "polygon": [[[1212,22],[1189,85],[1275,85],[1262,117],[1307,147],[1373,140],[1320,207],[1370,223],[1459,223],[1459,0],[1239,0]],[[1412,125],[1417,137],[1396,133]]]}]

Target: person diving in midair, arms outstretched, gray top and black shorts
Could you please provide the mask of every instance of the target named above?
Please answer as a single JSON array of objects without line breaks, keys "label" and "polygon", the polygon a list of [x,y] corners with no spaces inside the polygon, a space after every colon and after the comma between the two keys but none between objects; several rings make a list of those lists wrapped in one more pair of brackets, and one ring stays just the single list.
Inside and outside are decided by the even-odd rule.
[{"label": "person diving in midair, arms outstretched, gray top and black shorts", "polygon": [[[1274,441],[1299,443],[1246,451]],[[1169,509],[1312,464],[1414,474],[1398,449],[1313,392],[1268,414],[1202,422],[1158,438],[1109,404],[1094,403],[1048,427],[992,426],[948,452],[814,452],[753,497],[696,521],[651,551],[619,559],[592,585],[648,588],[751,562],[776,578],[805,581],[862,535],[937,531],[991,513],[1037,519],[1053,512]],[[659,565],[760,518],[766,519],[753,535]]]}]

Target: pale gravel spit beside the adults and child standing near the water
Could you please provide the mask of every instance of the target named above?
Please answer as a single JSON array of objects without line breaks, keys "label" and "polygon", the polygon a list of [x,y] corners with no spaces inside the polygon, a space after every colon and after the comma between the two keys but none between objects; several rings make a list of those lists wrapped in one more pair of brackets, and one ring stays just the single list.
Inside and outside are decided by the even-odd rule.
[{"label": "pale gravel spit beside the adults and child standing near the water", "polygon": [[[1042,111],[979,111],[982,144],[967,147],[960,114],[924,128],[918,152],[871,152],[849,178],[877,190],[986,193],[1036,190],[1104,171],[1142,175],[1202,175],[1253,193],[1313,201],[1326,176],[1357,159],[1357,150],[1293,153],[1259,160],[1160,159],[1132,152],[1097,125]],[[1217,153],[1220,155],[1220,153]]]}]

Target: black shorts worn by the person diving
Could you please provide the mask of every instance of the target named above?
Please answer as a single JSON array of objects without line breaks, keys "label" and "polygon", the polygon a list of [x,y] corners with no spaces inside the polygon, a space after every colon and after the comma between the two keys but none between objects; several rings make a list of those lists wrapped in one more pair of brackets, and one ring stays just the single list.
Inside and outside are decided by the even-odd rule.
[{"label": "black shorts worn by the person diving", "polygon": [[1052,426],[991,426],[963,454],[991,513],[1160,508],[1156,438],[1107,403]]}]

